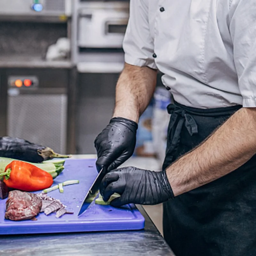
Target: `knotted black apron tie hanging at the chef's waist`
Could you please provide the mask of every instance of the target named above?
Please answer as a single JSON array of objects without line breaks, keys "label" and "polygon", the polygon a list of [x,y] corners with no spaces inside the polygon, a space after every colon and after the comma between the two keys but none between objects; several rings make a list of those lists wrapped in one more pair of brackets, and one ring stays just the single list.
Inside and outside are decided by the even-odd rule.
[{"label": "knotted black apron tie hanging at the chef's waist", "polygon": [[197,134],[198,129],[197,129],[197,124],[195,119],[191,115],[189,115],[185,109],[182,109],[177,105],[170,104],[167,107],[167,111],[171,115],[169,130],[171,130],[174,124],[178,122],[174,131],[172,143],[170,147],[167,148],[167,151],[166,151],[166,155],[169,156],[169,161],[170,161],[171,160],[170,158],[173,158],[173,155],[180,143],[180,133],[181,133],[184,122],[185,122],[185,127],[187,128],[190,136]]}]

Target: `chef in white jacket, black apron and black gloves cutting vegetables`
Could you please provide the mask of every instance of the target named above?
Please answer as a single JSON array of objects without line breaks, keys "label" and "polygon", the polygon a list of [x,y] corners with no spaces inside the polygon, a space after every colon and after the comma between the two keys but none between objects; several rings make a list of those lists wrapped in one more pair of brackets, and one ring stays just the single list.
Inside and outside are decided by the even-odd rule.
[{"label": "chef in white jacket, black apron and black gloves cutting vegetables", "polygon": [[[177,256],[256,255],[256,2],[131,0],[113,118],[95,140],[100,192],[164,203]],[[162,172],[132,156],[157,70],[174,104]]]}]

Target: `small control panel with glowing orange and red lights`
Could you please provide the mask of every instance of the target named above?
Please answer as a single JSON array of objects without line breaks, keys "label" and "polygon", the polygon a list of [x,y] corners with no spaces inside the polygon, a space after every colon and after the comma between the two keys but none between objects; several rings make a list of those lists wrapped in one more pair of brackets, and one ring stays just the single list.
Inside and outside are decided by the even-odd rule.
[{"label": "small control panel with glowing orange and red lights", "polygon": [[8,87],[16,89],[36,89],[39,85],[36,76],[9,76]]}]

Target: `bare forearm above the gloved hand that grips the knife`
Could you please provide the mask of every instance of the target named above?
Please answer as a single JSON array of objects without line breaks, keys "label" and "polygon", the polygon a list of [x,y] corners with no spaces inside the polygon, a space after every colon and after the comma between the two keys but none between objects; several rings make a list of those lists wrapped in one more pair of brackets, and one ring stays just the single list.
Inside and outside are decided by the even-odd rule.
[{"label": "bare forearm above the gloved hand that grips the knife", "polygon": [[116,85],[113,117],[124,117],[138,123],[154,93],[156,74],[156,70],[148,67],[125,64]]}]

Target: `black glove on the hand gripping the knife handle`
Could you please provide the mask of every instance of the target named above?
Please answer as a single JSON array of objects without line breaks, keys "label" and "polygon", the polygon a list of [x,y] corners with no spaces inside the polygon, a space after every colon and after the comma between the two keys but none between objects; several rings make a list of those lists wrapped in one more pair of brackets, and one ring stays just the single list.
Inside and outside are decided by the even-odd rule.
[{"label": "black glove on the hand gripping the knife handle", "polygon": [[94,146],[97,150],[98,172],[104,166],[108,172],[123,164],[133,154],[138,124],[122,118],[112,118],[108,126],[97,136]]}]

